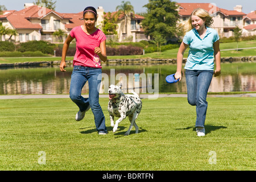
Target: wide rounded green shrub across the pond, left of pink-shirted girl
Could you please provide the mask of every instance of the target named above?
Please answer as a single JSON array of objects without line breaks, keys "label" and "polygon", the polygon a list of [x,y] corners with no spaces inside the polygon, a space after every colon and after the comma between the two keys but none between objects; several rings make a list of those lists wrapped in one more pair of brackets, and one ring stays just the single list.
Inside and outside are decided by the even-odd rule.
[{"label": "wide rounded green shrub across the pond, left of pink-shirted girl", "polygon": [[30,41],[26,43],[20,43],[19,48],[17,51],[19,52],[26,52],[26,51],[41,51],[42,53],[47,53],[47,54],[54,54],[54,48],[55,44],[51,44],[48,42],[44,42],[42,40],[40,41]]}]

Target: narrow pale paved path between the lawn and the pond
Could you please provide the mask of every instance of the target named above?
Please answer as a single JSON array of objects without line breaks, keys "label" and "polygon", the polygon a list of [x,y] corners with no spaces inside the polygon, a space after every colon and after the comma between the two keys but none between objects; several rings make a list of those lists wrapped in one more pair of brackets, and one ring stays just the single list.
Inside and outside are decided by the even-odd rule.
[{"label": "narrow pale paved path between the lawn and the pond", "polygon": [[[83,95],[88,97],[88,95]],[[108,98],[106,94],[100,94],[100,98]],[[141,94],[141,98],[162,98],[162,97],[187,97],[187,94]],[[256,97],[256,93],[246,94],[232,94],[232,95],[208,95],[208,97]],[[36,99],[36,98],[69,98],[69,95],[55,95],[55,94],[43,94],[43,95],[13,95],[13,96],[0,96],[0,100],[9,99]]]}]

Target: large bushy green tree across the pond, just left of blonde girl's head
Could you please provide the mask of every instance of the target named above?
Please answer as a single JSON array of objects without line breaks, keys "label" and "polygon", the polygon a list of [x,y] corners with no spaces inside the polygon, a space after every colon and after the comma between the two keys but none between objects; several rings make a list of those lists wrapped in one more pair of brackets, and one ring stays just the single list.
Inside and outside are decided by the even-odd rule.
[{"label": "large bushy green tree across the pond, just left of blonde girl's head", "polygon": [[179,14],[176,9],[176,2],[170,0],[149,0],[147,14],[142,20],[142,27],[146,35],[154,38],[160,34],[164,39],[174,38],[176,35],[176,22]]}]

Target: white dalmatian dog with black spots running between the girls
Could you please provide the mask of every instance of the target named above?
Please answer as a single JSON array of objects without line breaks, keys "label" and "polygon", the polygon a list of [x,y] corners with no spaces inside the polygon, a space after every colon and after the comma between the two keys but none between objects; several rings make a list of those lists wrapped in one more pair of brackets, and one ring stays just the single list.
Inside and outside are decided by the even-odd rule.
[{"label": "white dalmatian dog with black spots running between the girls", "polygon": [[[110,85],[109,86],[109,105],[108,111],[110,115],[111,126],[113,127],[113,133],[117,131],[118,124],[125,119],[127,116],[131,122],[129,130],[125,135],[129,135],[132,127],[135,127],[135,133],[139,133],[139,127],[136,125],[135,120],[142,109],[142,101],[138,94],[132,91],[133,94],[123,94],[122,84],[120,86]],[[119,119],[115,121],[114,117]]]}]

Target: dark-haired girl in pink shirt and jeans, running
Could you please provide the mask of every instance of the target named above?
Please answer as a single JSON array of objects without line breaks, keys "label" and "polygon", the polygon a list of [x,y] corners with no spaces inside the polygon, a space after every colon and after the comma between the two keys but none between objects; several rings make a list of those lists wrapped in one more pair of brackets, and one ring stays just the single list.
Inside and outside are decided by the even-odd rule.
[{"label": "dark-haired girl in pink shirt and jeans, running", "polygon": [[[106,134],[105,117],[99,104],[99,85],[102,72],[101,61],[106,61],[106,36],[95,27],[97,11],[94,7],[84,10],[84,25],[71,30],[63,46],[60,71],[65,72],[65,58],[69,44],[76,39],[76,54],[73,60],[73,73],[69,97],[79,107],[76,121],[84,119],[86,111],[92,109],[98,134]],[[81,96],[85,83],[89,84],[89,98]]]}]

